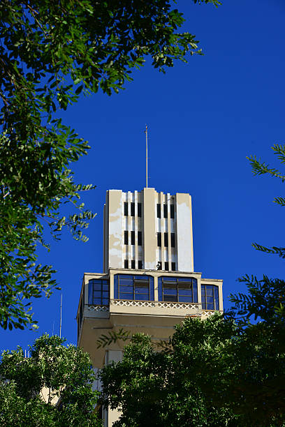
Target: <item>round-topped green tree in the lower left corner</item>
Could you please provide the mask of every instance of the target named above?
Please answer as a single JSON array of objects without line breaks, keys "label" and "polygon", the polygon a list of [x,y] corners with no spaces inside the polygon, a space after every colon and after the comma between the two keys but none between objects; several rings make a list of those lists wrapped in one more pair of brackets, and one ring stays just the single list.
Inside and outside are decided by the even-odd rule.
[{"label": "round-topped green tree in the lower left corner", "polygon": [[0,424],[3,427],[101,426],[94,407],[94,372],[87,353],[64,339],[44,335],[25,357],[6,351],[0,364]]}]

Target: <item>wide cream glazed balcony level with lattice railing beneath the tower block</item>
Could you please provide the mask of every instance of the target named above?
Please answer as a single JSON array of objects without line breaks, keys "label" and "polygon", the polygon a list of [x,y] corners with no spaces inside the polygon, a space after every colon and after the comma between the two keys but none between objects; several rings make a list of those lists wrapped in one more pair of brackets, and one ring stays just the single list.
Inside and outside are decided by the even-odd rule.
[{"label": "wide cream glazed balcony level with lattice railing beneath the tower block", "polygon": [[109,274],[85,274],[78,340],[85,320],[93,329],[124,327],[149,333],[161,327],[168,329],[169,336],[174,324],[185,317],[205,318],[222,311],[222,281],[200,276],[117,269],[110,269]]}]

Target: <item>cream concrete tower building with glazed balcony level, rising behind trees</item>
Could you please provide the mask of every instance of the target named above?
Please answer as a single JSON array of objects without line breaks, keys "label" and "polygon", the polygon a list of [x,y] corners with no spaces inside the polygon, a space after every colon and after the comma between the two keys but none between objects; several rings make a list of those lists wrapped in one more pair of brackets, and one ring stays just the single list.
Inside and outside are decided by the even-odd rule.
[{"label": "cream concrete tower building with glazed balcony level, rising behind trees", "polygon": [[[193,268],[189,194],[109,190],[103,234],[103,273],[84,274],[77,315],[78,345],[94,368],[122,359],[122,342],[97,348],[102,334],[123,328],[165,340],[185,317],[223,310],[222,280]],[[104,426],[117,417],[105,411]]]}]

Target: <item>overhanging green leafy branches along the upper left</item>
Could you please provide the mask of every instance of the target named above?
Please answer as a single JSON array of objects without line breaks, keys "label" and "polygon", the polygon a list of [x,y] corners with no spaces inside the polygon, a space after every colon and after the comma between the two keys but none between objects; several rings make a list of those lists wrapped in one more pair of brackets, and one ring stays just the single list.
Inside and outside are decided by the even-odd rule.
[{"label": "overhanging green leafy branches along the upper left", "polygon": [[[217,0],[193,0],[212,3]],[[75,239],[94,213],[80,204],[71,163],[89,145],[64,125],[60,110],[80,93],[110,95],[145,57],[161,71],[198,53],[196,37],[170,0],[3,0],[0,3],[0,325],[33,322],[31,297],[50,296],[52,267],[38,264],[43,225]],[[76,212],[62,216],[69,202]]]}]

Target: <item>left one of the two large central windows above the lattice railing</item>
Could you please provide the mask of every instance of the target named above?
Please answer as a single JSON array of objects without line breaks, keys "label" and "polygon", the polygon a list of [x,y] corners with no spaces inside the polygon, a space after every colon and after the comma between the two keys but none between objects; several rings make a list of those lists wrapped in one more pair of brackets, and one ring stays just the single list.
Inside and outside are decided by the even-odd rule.
[{"label": "left one of the two large central windows above the lattice railing", "polygon": [[151,276],[117,275],[118,298],[136,301],[154,300],[154,278]]}]

